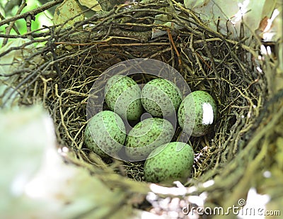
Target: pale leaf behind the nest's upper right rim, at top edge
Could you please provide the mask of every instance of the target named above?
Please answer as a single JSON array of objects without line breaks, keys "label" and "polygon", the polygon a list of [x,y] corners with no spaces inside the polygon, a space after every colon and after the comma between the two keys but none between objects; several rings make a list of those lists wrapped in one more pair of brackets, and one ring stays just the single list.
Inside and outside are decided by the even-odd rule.
[{"label": "pale leaf behind the nest's upper right rim, at top edge", "polygon": [[[250,30],[254,31],[258,28],[265,1],[185,0],[184,4],[187,9],[197,13],[202,22],[213,30],[229,35],[230,38],[238,38],[242,21]],[[244,29],[245,36],[251,35],[249,28]]]}]

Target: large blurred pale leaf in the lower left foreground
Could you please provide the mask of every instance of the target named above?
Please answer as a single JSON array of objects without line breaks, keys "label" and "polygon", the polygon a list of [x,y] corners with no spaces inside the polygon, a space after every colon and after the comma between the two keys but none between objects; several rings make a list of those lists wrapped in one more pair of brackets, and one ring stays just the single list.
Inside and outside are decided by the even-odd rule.
[{"label": "large blurred pale leaf in the lower left foreground", "polygon": [[64,162],[40,106],[0,111],[0,218],[122,218],[132,208],[82,167]]}]

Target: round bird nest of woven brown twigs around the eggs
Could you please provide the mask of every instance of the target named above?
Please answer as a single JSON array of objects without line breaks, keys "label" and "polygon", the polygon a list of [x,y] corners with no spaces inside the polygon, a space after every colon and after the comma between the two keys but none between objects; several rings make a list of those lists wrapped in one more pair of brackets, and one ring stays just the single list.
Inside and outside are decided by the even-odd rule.
[{"label": "round bird nest of woven brown twigs around the eggs", "polygon": [[[165,7],[173,10],[165,12]],[[166,14],[173,25],[156,23],[158,14]],[[152,38],[154,31],[160,34]],[[192,91],[208,91],[218,106],[212,131],[203,137],[190,137],[195,162],[184,186],[195,189],[187,190],[183,197],[205,191],[212,205],[224,205],[227,200],[234,203],[246,196],[249,184],[245,177],[262,173],[258,156],[269,149],[259,143],[265,133],[258,127],[269,124],[270,106],[280,95],[267,101],[270,73],[265,69],[272,71],[272,65],[270,60],[257,60],[260,42],[256,36],[228,39],[205,26],[192,11],[160,1],[115,6],[73,27],[50,27],[44,33],[34,31],[26,37],[33,40],[11,50],[23,50],[40,41],[45,45],[25,58],[21,71],[8,76],[16,76],[11,87],[20,95],[18,102],[22,105],[42,103],[47,108],[54,120],[58,144],[72,152],[69,161],[94,174],[105,174],[104,181],[111,172],[123,176],[120,184],[124,178],[134,179],[136,185],[144,184],[143,162],[101,160],[86,148],[83,133],[88,96],[96,79],[122,61],[150,58],[177,69]],[[146,83],[150,79],[144,74],[136,81]],[[178,139],[180,133],[177,128],[174,138]],[[251,168],[250,175],[246,168]],[[207,181],[211,185],[206,185]]]}]

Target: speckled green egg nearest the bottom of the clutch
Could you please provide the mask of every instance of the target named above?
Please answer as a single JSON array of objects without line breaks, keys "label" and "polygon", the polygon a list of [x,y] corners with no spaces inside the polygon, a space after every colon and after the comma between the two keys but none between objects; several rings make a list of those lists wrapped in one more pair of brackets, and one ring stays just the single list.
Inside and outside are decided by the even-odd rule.
[{"label": "speckled green egg nearest the bottom of the clutch", "polygon": [[154,183],[187,178],[192,172],[194,150],[184,142],[157,147],[144,164],[144,178]]}]

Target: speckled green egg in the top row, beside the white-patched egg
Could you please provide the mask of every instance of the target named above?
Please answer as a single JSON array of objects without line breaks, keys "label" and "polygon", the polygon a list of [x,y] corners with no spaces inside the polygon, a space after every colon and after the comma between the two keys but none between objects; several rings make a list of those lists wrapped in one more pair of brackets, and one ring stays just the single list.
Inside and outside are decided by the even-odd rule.
[{"label": "speckled green egg in the top row, beside the white-patched egg", "polygon": [[167,79],[153,79],[141,90],[141,103],[152,116],[172,116],[182,101],[180,89]]}]

